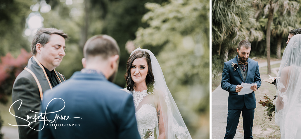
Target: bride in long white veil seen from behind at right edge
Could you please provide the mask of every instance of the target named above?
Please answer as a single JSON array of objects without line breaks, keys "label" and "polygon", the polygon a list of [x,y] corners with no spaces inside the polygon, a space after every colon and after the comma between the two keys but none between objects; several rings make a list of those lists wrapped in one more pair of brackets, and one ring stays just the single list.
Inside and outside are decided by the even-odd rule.
[{"label": "bride in long white veil seen from behind at right edge", "polygon": [[276,81],[275,121],[281,139],[301,138],[301,34],[294,35],[285,48]]}]

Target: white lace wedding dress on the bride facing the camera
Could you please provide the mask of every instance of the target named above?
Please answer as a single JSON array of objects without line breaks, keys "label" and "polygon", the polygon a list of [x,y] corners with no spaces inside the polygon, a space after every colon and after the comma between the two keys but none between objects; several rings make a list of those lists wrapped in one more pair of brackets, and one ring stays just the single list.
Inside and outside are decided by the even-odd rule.
[{"label": "white lace wedding dress on the bride facing the camera", "polygon": [[144,136],[147,130],[153,132],[150,139],[154,139],[155,127],[158,126],[157,106],[155,105],[154,94],[147,93],[147,90],[142,92],[130,92],[126,88],[122,89],[126,93],[132,94],[135,104],[135,115],[140,136]]}]

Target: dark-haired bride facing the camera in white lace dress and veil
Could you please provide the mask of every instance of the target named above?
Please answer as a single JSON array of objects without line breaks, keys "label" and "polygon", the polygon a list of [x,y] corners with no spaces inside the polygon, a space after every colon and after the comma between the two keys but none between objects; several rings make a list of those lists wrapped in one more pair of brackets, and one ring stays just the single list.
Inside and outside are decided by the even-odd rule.
[{"label": "dark-haired bride facing the camera in white lace dress and veil", "polygon": [[141,138],[147,131],[153,133],[149,138],[191,138],[154,54],[138,48],[126,68],[127,87],[123,90],[133,95]]}]

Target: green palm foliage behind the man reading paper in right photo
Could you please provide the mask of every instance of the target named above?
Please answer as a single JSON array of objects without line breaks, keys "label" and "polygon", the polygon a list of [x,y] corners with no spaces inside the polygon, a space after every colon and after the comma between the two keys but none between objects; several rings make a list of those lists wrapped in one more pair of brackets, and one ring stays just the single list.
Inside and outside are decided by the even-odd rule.
[{"label": "green palm foliage behind the man reading paper in right photo", "polygon": [[272,58],[281,58],[288,31],[301,27],[300,0],[212,0],[212,57],[217,60],[212,60],[212,77],[220,75],[222,64],[237,55],[243,39],[251,42],[250,58],[266,58],[270,2],[274,3],[270,52]]}]

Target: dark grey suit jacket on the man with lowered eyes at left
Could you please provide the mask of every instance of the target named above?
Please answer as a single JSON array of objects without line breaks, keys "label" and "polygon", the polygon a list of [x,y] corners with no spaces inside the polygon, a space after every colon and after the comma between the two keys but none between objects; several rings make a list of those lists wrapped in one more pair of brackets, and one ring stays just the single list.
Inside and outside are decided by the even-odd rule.
[{"label": "dark grey suit jacket on the man with lowered eyes at left", "polygon": [[[17,125],[28,125],[29,122],[33,122],[29,126],[36,130],[39,129],[39,122],[34,122],[34,119],[28,119],[29,122],[27,122],[27,115],[34,117],[34,112],[40,112],[43,93],[52,87],[46,79],[47,75],[45,76],[46,73],[44,73],[41,68],[42,65],[40,66],[40,63],[38,63],[39,61],[37,61],[34,56],[31,57],[26,68],[17,76],[12,89],[13,103],[17,100],[22,100],[21,106],[21,101],[17,101],[13,105],[15,115],[20,117],[15,117]],[[57,81],[64,82],[66,80],[62,74],[57,71],[55,71],[55,73]],[[34,112],[31,112],[30,110]],[[38,138],[38,131],[31,129],[30,127],[19,126],[19,137]]]}]

